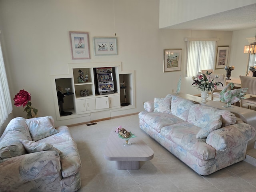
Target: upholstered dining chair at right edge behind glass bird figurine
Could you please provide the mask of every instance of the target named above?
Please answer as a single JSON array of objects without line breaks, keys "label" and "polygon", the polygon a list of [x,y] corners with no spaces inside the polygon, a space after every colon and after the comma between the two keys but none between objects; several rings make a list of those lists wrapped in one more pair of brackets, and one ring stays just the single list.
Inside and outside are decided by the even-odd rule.
[{"label": "upholstered dining chair at right edge behind glass bird figurine", "polygon": [[256,77],[249,77],[249,76],[239,76],[241,80],[241,88],[248,88],[246,95],[249,98],[240,100],[240,107],[243,104],[247,104],[248,108],[250,109],[251,106],[256,107]]}]

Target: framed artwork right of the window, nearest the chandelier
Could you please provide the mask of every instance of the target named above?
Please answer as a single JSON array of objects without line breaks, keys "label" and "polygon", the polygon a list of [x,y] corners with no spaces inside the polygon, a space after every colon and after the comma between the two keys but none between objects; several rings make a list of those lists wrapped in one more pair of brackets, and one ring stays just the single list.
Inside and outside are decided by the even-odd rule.
[{"label": "framed artwork right of the window, nearest the chandelier", "polygon": [[218,46],[215,69],[225,68],[228,63],[229,46]]}]

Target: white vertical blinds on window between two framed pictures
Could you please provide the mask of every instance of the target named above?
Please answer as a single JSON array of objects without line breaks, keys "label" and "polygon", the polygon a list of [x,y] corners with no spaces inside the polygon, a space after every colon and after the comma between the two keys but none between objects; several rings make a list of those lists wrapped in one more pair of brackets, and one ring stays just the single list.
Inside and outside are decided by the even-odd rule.
[{"label": "white vertical blinds on window between two framed pictures", "polygon": [[187,77],[202,69],[214,69],[216,41],[188,41]]}]

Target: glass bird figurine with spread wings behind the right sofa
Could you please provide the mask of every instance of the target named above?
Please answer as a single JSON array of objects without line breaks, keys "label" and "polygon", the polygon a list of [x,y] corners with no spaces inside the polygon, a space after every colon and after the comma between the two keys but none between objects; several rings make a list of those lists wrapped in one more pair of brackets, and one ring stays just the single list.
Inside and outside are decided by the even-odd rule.
[{"label": "glass bird figurine with spread wings behind the right sofa", "polygon": [[[231,86],[231,90],[228,88]],[[220,92],[220,100],[226,103],[226,106],[223,107],[231,107],[231,104],[238,102],[240,99],[244,99],[245,92],[247,92],[248,88],[240,88],[233,89],[234,83],[229,83],[221,92]]]}]

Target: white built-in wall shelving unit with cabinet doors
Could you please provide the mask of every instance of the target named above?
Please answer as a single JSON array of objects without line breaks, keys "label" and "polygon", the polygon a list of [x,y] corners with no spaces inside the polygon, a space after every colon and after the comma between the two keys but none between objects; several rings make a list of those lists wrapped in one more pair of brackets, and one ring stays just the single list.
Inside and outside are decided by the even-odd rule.
[{"label": "white built-in wall shelving unit with cabinet doors", "polygon": [[[98,94],[95,78],[95,68],[111,67],[114,74],[114,93],[112,94]],[[80,71],[84,73],[86,81],[80,82],[78,77]],[[90,116],[92,113],[105,111],[104,115],[112,111],[124,110],[125,108],[135,108],[134,99],[134,72],[122,72],[121,62],[102,62],[102,63],[72,63],[68,64],[69,73],[66,75],[53,75],[52,89],[54,94],[54,104],[57,120],[65,120],[70,118],[77,118],[81,116]],[[121,78],[121,80],[120,80]],[[126,81],[127,98],[130,103],[129,106],[121,108],[122,93],[120,94],[120,82]],[[70,88],[69,92],[74,92],[70,96],[64,98],[64,111],[72,112],[68,116],[60,116],[57,87]],[[81,90],[88,90],[88,96],[80,94]],[[68,97],[68,98],[67,98]],[[95,118],[94,114],[94,118]],[[100,119],[100,117],[99,117]]]}]

